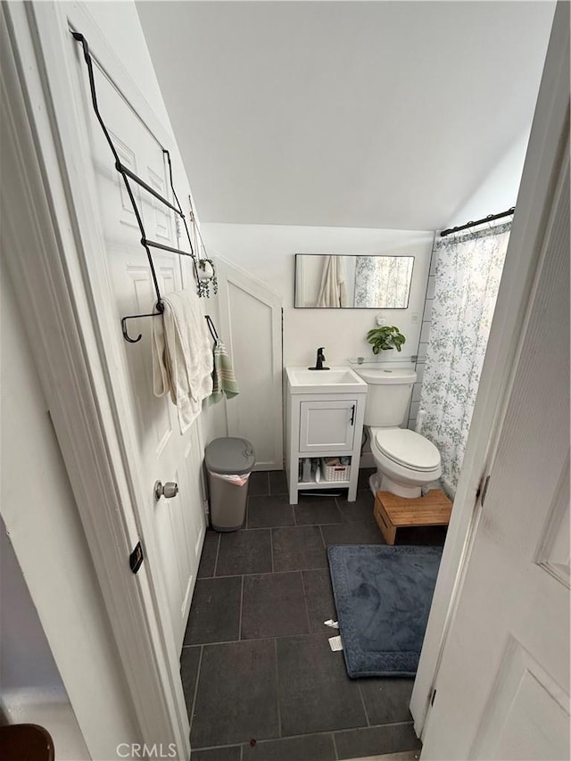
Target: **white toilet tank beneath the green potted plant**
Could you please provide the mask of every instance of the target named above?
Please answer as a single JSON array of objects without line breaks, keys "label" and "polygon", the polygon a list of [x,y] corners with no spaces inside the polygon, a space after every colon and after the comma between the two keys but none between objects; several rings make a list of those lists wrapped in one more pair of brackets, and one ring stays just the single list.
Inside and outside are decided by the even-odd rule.
[{"label": "white toilet tank beneath the green potted plant", "polygon": [[400,426],[409,410],[416,372],[406,368],[355,368],[355,372],[368,385],[365,425]]}]

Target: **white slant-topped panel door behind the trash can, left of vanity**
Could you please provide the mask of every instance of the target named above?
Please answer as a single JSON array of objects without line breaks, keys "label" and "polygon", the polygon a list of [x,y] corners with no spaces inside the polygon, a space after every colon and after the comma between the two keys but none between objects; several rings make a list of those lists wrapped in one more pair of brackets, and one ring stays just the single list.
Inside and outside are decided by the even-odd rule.
[{"label": "white slant-topped panel door behind the trash can, left of vanity", "polygon": [[284,467],[281,299],[217,258],[219,334],[232,356],[240,393],[225,401],[228,435],[244,436],[255,470]]}]

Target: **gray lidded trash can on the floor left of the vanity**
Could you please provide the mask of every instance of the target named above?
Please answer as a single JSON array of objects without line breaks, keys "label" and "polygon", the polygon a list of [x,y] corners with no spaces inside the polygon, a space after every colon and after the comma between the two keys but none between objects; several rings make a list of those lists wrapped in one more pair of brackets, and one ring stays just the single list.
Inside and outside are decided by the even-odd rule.
[{"label": "gray lidded trash can on the floor left of the vanity", "polygon": [[246,439],[214,439],[204,450],[211,497],[211,526],[215,531],[237,531],[244,525],[248,479],[255,455]]}]

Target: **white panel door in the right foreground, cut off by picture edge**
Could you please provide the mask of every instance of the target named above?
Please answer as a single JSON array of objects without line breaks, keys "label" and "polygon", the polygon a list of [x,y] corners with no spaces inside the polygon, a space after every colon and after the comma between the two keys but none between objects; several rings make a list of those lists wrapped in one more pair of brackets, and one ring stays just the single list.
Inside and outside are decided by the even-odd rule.
[{"label": "white panel door in the right foreground, cut off by picture edge", "polygon": [[569,155],[422,758],[569,758]]}]

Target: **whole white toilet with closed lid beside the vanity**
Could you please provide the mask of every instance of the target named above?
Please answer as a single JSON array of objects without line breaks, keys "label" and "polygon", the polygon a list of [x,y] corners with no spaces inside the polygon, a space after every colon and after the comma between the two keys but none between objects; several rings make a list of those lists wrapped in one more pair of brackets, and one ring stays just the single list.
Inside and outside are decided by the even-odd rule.
[{"label": "whole white toilet with closed lid beside the vanity", "polygon": [[440,452],[421,434],[401,428],[409,409],[414,370],[355,368],[368,384],[365,427],[377,473],[371,491],[420,497],[422,486],[440,478]]}]

